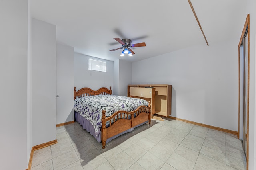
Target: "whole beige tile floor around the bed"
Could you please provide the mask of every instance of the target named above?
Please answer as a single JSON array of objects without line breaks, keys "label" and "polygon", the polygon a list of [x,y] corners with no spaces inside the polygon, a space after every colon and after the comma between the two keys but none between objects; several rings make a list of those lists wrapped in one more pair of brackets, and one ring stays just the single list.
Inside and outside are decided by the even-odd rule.
[{"label": "whole beige tile floor around the bed", "polygon": [[57,127],[57,144],[34,152],[31,170],[246,170],[236,135],[152,119],[106,145],[76,122]]}]

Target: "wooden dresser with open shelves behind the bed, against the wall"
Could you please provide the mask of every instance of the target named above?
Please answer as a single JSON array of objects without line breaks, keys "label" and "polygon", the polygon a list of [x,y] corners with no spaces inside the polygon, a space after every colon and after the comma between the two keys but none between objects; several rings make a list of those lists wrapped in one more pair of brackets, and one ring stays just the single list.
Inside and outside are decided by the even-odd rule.
[{"label": "wooden dresser with open shelves behind the bed, against the wall", "polygon": [[140,84],[128,85],[128,97],[143,98],[151,101],[151,113],[162,116],[171,115],[172,85]]}]

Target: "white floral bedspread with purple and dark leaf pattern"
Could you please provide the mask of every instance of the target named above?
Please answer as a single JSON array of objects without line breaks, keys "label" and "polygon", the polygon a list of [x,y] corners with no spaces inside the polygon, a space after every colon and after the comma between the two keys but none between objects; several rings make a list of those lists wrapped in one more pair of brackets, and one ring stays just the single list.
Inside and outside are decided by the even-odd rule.
[{"label": "white floral bedspread with purple and dark leaf pattern", "polygon": [[106,117],[109,117],[118,110],[134,111],[141,105],[148,106],[148,102],[144,99],[115,95],[100,94],[74,100],[74,110],[92,123],[96,134],[102,126],[103,109],[106,110]]}]

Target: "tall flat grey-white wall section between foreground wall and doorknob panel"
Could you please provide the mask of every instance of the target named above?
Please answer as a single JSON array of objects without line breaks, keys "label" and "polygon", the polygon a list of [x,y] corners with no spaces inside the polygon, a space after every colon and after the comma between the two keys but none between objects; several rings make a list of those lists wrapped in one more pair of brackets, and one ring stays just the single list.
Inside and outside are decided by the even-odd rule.
[{"label": "tall flat grey-white wall section between foreground wall and doorknob panel", "polygon": [[56,139],[56,26],[32,18],[32,145]]}]

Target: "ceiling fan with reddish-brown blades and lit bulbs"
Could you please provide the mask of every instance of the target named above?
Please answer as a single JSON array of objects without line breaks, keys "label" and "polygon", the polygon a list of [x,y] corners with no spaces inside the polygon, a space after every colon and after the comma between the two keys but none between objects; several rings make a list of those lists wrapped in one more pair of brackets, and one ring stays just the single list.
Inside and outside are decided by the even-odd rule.
[{"label": "ceiling fan with reddish-brown blades and lit bulbs", "polygon": [[146,46],[146,43],[137,43],[137,44],[131,44],[132,40],[130,39],[120,39],[120,38],[114,38],[118,43],[122,44],[123,47],[117,48],[117,49],[112,49],[110,51],[115,51],[115,50],[119,50],[119,49],[124,49],[121,53],[120,56],[124,56],[125,53],[128,53],[129,56],[134,55],[135,53],[132,51],[132,49],[130,49],[131,47],[144,47]]}]

